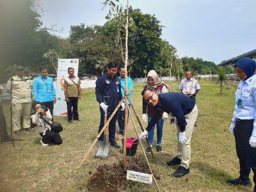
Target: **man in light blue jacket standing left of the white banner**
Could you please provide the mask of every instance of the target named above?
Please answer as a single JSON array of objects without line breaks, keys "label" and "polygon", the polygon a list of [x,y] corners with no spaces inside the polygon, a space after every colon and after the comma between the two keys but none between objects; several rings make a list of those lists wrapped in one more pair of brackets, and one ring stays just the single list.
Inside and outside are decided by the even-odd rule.
[{"label": "man in light blue jacket standing left of the white banner", "polygon": [[[56,92],[52,78],[47,76],[45,66],[39,67],[40,76],[33,81],[34,100],[50,110],[53,116],[53,104],[56,103]],[[53,121],[53,118],[52,118]]]}]

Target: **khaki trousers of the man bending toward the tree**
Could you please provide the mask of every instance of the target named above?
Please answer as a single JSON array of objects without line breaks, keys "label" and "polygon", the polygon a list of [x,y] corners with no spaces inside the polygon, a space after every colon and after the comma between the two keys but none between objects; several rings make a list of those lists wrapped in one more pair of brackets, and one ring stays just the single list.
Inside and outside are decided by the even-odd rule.
[{"label": "khaki trousers of the man bending toward the tree", "polygon": [[[181,166],[185,167],[186,169],[188,169],[189,167],[190,158],[191,158],[190,140],[191,140],[191,135],[194,129],[194,124],[197,119],[197,112],[198,112],[197,105],[195,105],[193,110],[185,116],[186,122],[187,122],[187,125],[185,128],[187,142],[185,144],[181,144],[179,140],[177,142],[176,156],[177,158],[181,159]],[[176,121],[176,129],[177,129],[177,138],[178,138],[180,133],[180,127],[178,126],[177,121]]]}]

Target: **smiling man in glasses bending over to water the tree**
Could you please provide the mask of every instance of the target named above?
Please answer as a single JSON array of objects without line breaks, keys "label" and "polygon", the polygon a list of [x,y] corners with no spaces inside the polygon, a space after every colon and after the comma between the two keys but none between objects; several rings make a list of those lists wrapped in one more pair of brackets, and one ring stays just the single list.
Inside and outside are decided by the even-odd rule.
[{"label": "smiling man in glasses bending over to water the tree", "polygon": [[197,118],[197,106],[194,101],[185,95],[175,92],[158,94],[151,87],[144,89],[142,96],[148,105],[154,106],[154,111],[153,118],[144,132],[140,134],[140,138],[145,138],[148,131],[156,124],[161,111],[176,117],[177,154],[174,159],[167,162],[167,165],[180,165],[172,173],[173,177],[178,178],[189,174],[191,158],[190,140]]}]

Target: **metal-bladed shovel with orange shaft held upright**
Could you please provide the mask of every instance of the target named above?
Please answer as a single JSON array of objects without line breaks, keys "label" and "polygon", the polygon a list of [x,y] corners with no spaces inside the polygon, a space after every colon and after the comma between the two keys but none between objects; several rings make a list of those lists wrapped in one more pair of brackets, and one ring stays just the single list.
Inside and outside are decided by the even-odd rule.
[{"label": "metal-bladed shovel with orange shaft held upright", "polygon": [[[108,96],[103,96],[103,101],[105,105],[107,105],[109,101]],[[105,101],[105,99],[107,101]],[[105,119],[104,119],[104,125],[107,123],[107,110],[105,111]],[[104,135],[103,135],[103,141],[98,142],[98,148],[97,153],[95,155],[95,158],[105,159],[108,156],[109,148],[110,148],[110,142],[106,142],[106,134],[107,134],[107,128],[104,129]]]}]

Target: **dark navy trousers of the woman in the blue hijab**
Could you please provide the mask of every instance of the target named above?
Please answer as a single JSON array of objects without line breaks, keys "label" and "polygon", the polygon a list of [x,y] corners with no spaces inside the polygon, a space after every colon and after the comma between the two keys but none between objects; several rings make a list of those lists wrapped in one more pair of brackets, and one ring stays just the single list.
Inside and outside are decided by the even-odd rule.
[{"label": "dark navy trousers of the woman in the blue hijab", "polygon": [[[236,121],[234,128],[236,154],[240,164],[240,179],[248,180],[252,171],[254,172],[254,183],[256,184],[256,148],[252,148],[249,139],[252,134],[254,119],[246,121]],[[254,186],[256,191],[256,186]]]}]

